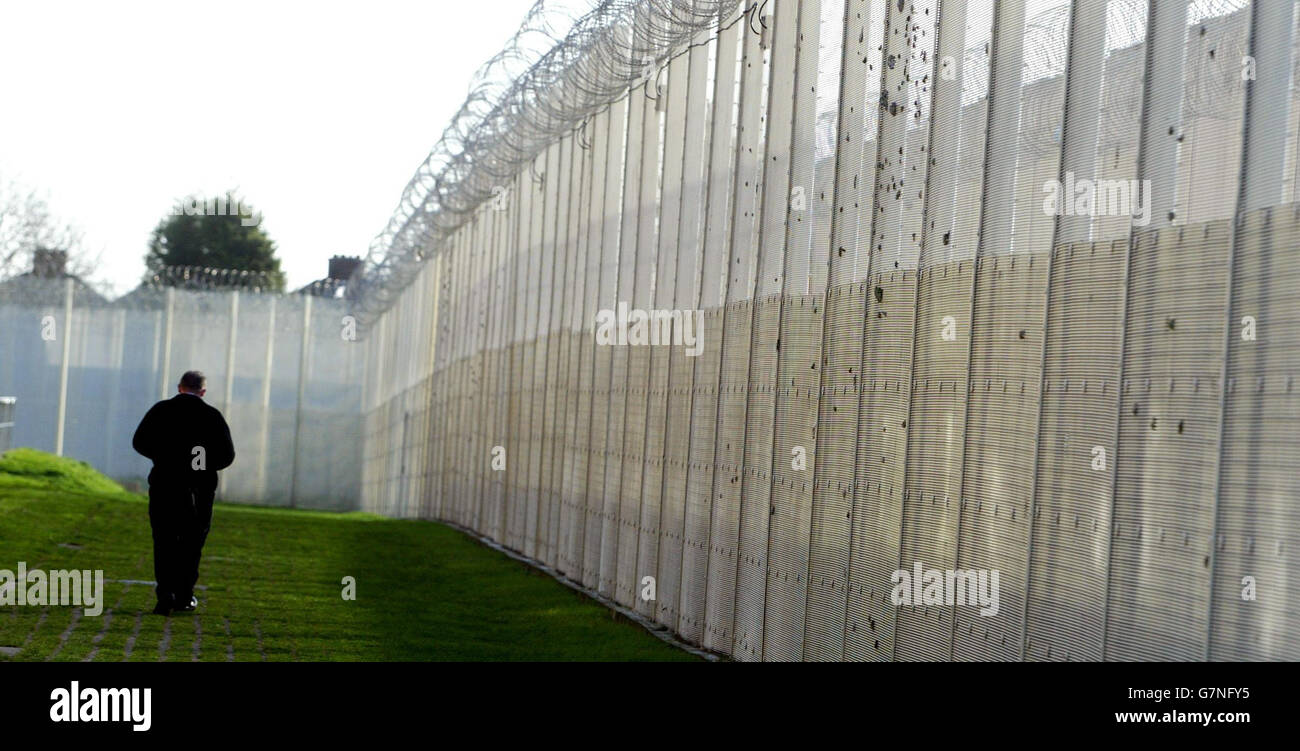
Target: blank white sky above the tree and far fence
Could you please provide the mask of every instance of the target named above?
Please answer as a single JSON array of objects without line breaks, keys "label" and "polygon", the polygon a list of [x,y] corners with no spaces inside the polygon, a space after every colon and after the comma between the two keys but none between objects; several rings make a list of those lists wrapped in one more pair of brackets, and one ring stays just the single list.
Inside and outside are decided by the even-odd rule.
[{"label": "blank white sky above the tree and far fence", "polygon": [[292,287],[364,255],[533,0],[0,0],[0,177],[121,294],[191,192],[239,188]]}]

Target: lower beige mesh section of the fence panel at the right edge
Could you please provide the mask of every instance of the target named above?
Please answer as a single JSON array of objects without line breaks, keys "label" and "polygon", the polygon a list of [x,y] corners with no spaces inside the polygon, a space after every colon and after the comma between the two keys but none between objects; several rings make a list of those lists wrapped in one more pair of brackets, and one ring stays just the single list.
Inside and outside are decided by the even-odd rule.
[{"label": "lower beige mesh section of the fence panel at the right edge", "polygon": [[[1283,262],[1300,229],[1296,207],[1245,217],[1232,266],[1221,496],[1216,525],[1209,657],[1290,660],[1300,654],[1286,603],[1296,547],[1295,264]],[[1249,320],[1248,320],[1249,317]],[[1251,321],[1256,326],[1251,331]],[[1271,321],[1266,334],[1265,321]],[[1261,346],[1265,344],[1265,346]],[[1243,596],[1252,577],[1257,600]]]}]

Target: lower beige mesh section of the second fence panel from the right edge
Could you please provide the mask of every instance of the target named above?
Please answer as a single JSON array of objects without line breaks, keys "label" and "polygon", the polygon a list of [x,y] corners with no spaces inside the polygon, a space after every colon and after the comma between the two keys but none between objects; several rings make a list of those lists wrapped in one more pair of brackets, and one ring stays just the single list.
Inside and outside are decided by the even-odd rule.
[{"label": "lower beige mesh section of the second fence panel from the right edge", "polygon": [[1200,259],[1226,259],[1228,235],[1214,222],[1134,239],[1106,659],[1204,656],[1227,273]]}]

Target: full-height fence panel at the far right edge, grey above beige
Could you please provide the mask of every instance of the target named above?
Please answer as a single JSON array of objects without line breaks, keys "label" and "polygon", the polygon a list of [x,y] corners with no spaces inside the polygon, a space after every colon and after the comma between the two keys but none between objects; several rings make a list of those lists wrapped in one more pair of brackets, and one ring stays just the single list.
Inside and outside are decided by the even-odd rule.
[{"label": "full-height fence panel at the far right edge, grey above beige", "polygon": [[[1232,252],[1206,657],[1295,660],[1300,602],[1292,472],[1294,373],[1300,320],[1294,248],[1300,14],[1291,3],[1252,5],[1256,81],[1248,94],[1242,217]],[[1254,587],[1253,598],[1244,596]]]}]

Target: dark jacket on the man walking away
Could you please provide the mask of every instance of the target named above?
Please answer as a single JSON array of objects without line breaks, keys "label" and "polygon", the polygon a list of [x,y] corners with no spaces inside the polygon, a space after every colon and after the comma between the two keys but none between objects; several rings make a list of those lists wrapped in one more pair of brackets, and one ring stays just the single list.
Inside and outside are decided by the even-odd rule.
[{"label": "dark jacket on the man walking away", "polygon": [[[216,489],[217,470],[235,460],[230,427],[221,411],[194,394],[177,394],[159,401],[140,420],[131,446],[153,460],[150,485],[168,483]],[[195,469],[203,447],[204,469]]]}]

